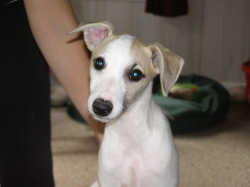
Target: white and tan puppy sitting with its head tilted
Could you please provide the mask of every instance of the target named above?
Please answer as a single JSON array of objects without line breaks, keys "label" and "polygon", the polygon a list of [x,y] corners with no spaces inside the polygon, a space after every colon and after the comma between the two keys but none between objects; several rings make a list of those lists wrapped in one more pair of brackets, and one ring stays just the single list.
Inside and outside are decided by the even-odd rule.
[{"label": "white and tan puppy sitting with its head tilted", "polygon": [[114,35],[108,22],[80,25],[72,32],[78,31],[92,52],[88,109],[107,122],[92,186],[177,186],[178,155],[169,123],[154,102],[152,79],[160,74],[167,96],[183,59],[160,44]]}]

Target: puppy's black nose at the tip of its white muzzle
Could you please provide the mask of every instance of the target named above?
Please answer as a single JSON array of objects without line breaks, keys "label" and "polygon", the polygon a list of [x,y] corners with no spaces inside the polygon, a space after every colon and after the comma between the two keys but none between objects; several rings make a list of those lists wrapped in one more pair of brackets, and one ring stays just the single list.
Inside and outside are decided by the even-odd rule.
[{"label": "puppy's black nose at the tip of its white muzzle", "polygon": [[98,98],[93,102],[92,108],[95,114],[104,117],[110,114],[113,109],[113,105],[110,101]]}]

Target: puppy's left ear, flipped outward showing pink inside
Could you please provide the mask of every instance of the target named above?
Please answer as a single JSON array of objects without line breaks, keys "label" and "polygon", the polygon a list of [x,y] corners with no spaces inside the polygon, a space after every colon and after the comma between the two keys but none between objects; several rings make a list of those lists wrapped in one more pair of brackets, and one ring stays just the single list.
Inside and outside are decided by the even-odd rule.
[{"label": "puppy's left ear, flipped outward showing pink inside", "polygon": [[75,30],[69,32],[72,34],[82,31],[84,34],[85,43],[90,51],[97,45],[102,43],[106,37],[113,34],[113,26],[109,22],[81,24]]}]

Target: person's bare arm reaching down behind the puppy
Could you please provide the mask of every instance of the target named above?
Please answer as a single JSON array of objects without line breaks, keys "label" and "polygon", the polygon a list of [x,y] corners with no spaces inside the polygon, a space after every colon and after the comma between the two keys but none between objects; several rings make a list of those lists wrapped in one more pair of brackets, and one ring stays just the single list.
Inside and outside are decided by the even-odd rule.
[{"label": "person's bare arm reaching down behind the puppy", "polygon": [[24,0],[33,36],[51,70],[100,140],[103,124],[87,110],[89,58],[81,35],[66,33],[78,26],[69,0]]}]

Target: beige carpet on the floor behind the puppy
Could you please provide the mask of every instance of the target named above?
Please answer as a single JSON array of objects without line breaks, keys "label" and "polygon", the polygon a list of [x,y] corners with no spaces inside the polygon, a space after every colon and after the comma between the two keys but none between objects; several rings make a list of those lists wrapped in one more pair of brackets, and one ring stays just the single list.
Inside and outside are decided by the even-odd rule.
[{"label": "beige carpet on the floor behind the puppy", "polygon": [[[250,107],[233,103],[221,124],[174,136],[179,187],[250,187]],[[97,175],[98,143],[66,108],[52,108],[52,149],[57,187],[88,187]]]}]

